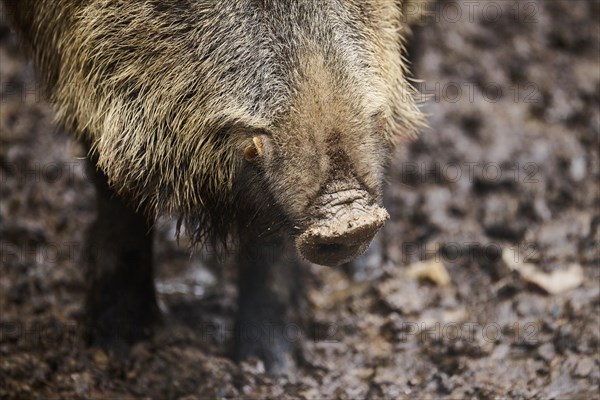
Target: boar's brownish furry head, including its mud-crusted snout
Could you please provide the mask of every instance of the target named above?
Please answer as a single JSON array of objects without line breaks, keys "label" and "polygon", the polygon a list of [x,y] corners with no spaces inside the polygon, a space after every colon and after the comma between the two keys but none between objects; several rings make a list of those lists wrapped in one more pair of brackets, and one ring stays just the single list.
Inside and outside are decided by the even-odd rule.
[{"label": "boar's brownish furry head, including its mud-crusted snout", "polygon": [[293,38],[271,82],[275,97],[258,102],[279,101],[270,106],[278,112],[264,129],[249,129],[238,152],[237,186],[256,210],[246,228],[288,230],[317,264],[339,265],[368,248],[389,218],[381,184],[390,151],[422,121],[400,37],[386,23],[353,35],[359,28],[350,23],[338,32],[322,22],[314,29],[323,37]]}]

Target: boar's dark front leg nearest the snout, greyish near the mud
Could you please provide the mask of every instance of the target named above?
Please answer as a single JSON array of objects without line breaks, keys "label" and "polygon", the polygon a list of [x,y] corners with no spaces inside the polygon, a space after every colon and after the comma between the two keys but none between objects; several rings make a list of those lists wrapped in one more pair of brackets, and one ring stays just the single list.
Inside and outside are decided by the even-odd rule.
[{"label": "boar's dark front leg nearest the snout, greyish near the mud", "polygon": [[289,373],[301,336],[292,322],[302,292],[295,252],[285,239],[245,238],[238,264],[236,356],[260,358],[271,375]]}]

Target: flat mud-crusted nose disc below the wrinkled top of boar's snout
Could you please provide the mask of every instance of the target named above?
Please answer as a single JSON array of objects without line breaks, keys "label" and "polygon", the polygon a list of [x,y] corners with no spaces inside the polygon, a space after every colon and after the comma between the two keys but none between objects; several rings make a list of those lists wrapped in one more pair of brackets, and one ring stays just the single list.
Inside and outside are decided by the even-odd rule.
[{"label": "flat mud-crusted nose disc below the wrinkled top of boar's snout", "polygon": [[364,253],[389,218],[377,205],[320,219],[296,239],[298,252],[315,264],[338,266]]}]

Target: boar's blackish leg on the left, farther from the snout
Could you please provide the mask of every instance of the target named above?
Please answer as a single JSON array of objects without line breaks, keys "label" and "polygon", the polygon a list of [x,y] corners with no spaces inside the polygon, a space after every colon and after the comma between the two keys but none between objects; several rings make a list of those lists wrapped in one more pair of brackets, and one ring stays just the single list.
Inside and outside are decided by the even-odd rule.
[{"label": "boar's blackish leg on the left, farther from the snout", "polygon": [[118,355],[147,337],[159,318],[152,271],[152,229],[109,187],[88,161],[96,188],[97,218],[84,247],[88,341]]}]

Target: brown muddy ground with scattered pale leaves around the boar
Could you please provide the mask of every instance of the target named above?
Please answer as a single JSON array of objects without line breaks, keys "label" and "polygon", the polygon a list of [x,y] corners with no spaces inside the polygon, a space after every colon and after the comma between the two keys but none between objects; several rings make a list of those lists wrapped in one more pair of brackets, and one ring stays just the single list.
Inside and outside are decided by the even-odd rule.
[{"label": "brown muddy ground with scattered pale leaves around the boar", "polygon": [[0,398],[598,398],[600,3],[431,11],[410,46],[430,129],[394,158],[380,251],[307,266],[305,360],[275,380],[228,358],[235,270],[166,219],[165,326],[126,360],[85,347],[84,154],[1,22]]}]

